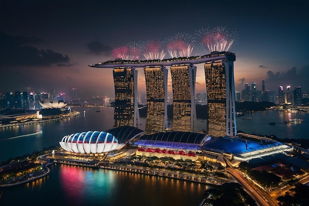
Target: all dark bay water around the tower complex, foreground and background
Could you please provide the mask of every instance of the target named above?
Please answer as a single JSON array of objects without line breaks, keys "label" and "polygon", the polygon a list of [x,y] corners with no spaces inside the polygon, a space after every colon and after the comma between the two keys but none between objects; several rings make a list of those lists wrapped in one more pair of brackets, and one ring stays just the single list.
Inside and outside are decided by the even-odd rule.
[{"label": "all dark bay water around the tower complex, foreground and background", "polygon": [[[101,100],[102,101],[102,100]],[[94,102],[102,103],[102,102]],[[108,102],[103,102],[108,105]],[[43,124],[26,124],[0,128],[0,161],[32,154],[49,146],[59,146],[63,136],[82,131],[105,131],[112,128],[114,108],[74,107],[80,116]],[[100,112],[97,112],[100,110]],[[286,124],[285,120],[300,118],[300,124]],[[145,128],[141,118],[140,128]],[[237,130],[245,133],[276,135],[279,138],[309,139],[309,113],[265,111],[245,113],[236,118]],[[275,123],[275,124],[269,124]],[[205,128],[205,121],[197,121],[197,129]],[[38,135],[18,137],[42,130]],[[13,137],[13,138],[12,138]],[[14,138],[16,137],[16,138]],[[206,189],[205,184],[186,182],[157,176],[107,169],[92,169],[71,165],[50,165],[48,176],[16,187],[0,188],[0,205],[28,203],[59,206],[198,206]]]}]

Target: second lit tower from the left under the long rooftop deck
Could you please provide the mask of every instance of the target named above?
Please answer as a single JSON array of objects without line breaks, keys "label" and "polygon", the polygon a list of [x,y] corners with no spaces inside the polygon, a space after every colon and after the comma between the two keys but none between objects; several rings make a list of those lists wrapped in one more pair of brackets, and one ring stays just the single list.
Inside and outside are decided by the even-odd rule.
[{"label": "second lit tower from the left under the long rooftop deck", "polygon": [[167,124],[167,69],[163,66],[144,67],[147,93],[145,133],[162,132]]}]

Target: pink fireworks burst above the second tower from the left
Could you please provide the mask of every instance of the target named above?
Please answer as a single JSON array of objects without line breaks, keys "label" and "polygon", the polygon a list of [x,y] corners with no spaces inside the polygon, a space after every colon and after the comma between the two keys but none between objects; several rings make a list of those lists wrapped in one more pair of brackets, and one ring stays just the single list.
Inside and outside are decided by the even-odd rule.
[{"label": "pink fireworks burst above the second tower from the left", "polygon": [[165,52],[162,49],[160,41],[150,40],[142,43],[143,54],[147,60],[151,59],[163,59]]}]

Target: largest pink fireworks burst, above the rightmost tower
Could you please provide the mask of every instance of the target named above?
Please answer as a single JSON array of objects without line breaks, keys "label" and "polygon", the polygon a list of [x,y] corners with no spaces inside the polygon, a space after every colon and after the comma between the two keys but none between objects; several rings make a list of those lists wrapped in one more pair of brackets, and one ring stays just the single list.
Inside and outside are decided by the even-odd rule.
[{"label": "largest pink fireworks burst, above the rightmost tower", "polygon": [[229,31],[226,27],[218,26],[213,30],[201,29],[196,34],[201,44],[212,51],[228,51],[237,38],[235,31]]}]

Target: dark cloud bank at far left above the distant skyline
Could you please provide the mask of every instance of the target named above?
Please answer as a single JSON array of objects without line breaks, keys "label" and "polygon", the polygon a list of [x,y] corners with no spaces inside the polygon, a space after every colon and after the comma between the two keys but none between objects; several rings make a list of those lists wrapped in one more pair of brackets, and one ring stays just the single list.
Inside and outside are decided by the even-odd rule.
[{"label": "dark cloud bank at far left above the distant skyline", "polygon": [[52,64],[69,62],[68,55],[47,49],[22,44],[42,42],[38,38],[14,37],[0,32],[0,65],[6,66],[49,66]]}]

